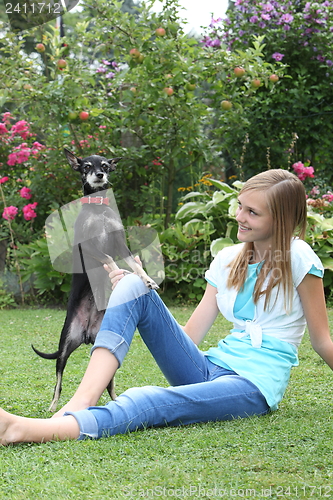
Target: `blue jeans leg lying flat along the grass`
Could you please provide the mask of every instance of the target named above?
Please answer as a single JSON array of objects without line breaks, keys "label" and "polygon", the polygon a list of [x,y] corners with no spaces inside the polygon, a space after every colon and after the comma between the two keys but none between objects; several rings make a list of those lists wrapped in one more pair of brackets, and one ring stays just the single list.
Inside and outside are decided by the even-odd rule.
[{"label": "blue jeans leg lying flat along the grass", "polygon": [[208,382],[128,389],[106,406],[70,413],[80,426],[79,439],[96,439],[148,427],[231,420],[269,412],[264,396],[252,382],[228,370],[220,371],[221,376]]}]

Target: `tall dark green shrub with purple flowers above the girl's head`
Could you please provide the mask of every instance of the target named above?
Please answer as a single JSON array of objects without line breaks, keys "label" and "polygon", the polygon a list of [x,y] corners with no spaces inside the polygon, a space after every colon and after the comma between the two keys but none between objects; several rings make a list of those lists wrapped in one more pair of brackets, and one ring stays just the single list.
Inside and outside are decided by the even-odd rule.
[{"label": "tall dark green shrub with purple flowers above the girl's head", "polygon": [[[219,51],[244,51],[252,36],[264,36],[264,57],[287,65],[273,91],[256,92],[248,119],[246,178],[267,167],[288,168],[287,144],[298,135],[295,158],[309,158],[316,171],[333,182],[333,0],[236,0],[226,17],[213,19],[203,43]],[[258,78],[260,75],[258,75]],[[239,157],[238,131],[228,153]],[[236,148],[235,148],[236,144]]]}]

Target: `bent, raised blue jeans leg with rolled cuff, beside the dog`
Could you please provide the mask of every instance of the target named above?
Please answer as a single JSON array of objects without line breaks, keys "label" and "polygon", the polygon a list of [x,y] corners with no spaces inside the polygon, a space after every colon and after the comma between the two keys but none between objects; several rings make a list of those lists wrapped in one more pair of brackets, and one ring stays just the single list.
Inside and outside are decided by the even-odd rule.
[{"label": "bent, raised blue jeans leg with rolled cuff, beside the dog", "polygon": [[92,350],[109,349],[121,365],[136,328],[171,385],[208,380],[206,356],[186,335],[159,295],[131,274],[120,280],[111,294]]}]

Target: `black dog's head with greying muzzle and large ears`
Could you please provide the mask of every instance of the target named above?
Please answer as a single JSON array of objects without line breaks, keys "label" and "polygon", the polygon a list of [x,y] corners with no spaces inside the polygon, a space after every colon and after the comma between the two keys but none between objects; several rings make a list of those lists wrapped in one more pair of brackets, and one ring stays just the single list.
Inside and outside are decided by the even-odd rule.
[{"label": "black dog's head with greying muzzle and large ears", "polygon": [[116,170],[116,164],[121,160],[121,158],[108,160],[99,155],[78,158],[68,149],[64,151],[70,166],[81,174],[85,194],[106,189],[110,172]]}]

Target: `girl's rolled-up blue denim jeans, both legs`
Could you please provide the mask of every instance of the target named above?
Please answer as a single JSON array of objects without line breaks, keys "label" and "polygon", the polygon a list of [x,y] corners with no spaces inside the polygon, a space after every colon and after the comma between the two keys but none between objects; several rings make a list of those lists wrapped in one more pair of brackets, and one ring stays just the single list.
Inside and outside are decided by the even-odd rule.
[{"label": "girl's rolled-up blue denim jeans, both legs", "polygon": [[78,421],[79,439],[269,412],[264,396],[252,382],[209,361],[159,295],[130,274],[112,292],[92,350],[108,349],[121,365],[136,328],[170,387],[135,387],[106,406],[66,413]]}]

